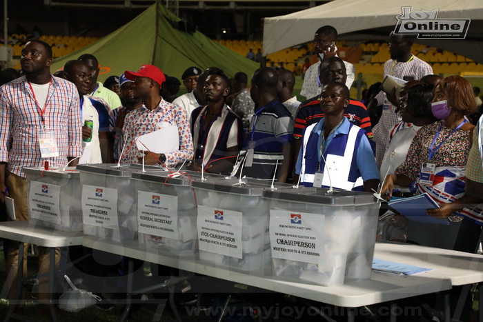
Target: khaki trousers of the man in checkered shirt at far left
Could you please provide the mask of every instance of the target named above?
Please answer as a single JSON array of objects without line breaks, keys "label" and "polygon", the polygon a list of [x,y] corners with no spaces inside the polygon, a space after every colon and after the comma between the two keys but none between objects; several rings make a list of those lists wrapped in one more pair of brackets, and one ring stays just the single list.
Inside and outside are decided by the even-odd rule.
[{"label": "khaki trousers of the man in checkered shirt at far left", "polygon": [[[6,185],[10,192],[10,197],[14,199],[15,216],[17,221],[28,220],[28,201],[27,201],[27,181],[23,177],[7,172]],[[24,243],[23,250],[23,277],[27,276],[27,254],[28,243]],[[39,247],[39,300],[48,299],[48,272],[49,256],[47,248]],[[59,267],[60,250],[55,248],[55,268]],[[7,254],[7,284],[10,283],[8,299],[15,299],[17,295],[17,272],[19,268],[19,242],[10,241]],[[10,282],[11,281],[11,282]],[[23,294],[26,294],[23,292]],[[25,297],[24,296],[21,296]]]}]

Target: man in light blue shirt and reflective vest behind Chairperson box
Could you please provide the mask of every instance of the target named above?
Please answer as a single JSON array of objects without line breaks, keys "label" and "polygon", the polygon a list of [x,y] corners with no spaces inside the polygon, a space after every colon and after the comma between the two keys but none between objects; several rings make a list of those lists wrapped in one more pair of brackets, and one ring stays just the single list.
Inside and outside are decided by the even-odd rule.
[{"label": "man in light blue shirt and reflective vest behind Chairperson box", "polygon": [[302,176],[302,185],[377,190],[379,174],[366,131],[344,117],[348,88],[331,82],[324,85],[320,97],[324,118],[304,130],[295,166],[295,173]]}]

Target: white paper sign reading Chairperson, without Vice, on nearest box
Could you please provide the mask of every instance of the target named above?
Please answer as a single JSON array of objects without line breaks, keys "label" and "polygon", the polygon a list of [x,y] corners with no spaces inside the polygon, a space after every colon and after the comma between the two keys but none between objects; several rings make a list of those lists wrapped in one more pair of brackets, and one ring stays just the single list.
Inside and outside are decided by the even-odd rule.
[{"label": "white paper sign reading Chairperson, without Vice, on nearest box", "polygon": [[324,216],[270,209],[272,257],[319,263],[325,231]]}]

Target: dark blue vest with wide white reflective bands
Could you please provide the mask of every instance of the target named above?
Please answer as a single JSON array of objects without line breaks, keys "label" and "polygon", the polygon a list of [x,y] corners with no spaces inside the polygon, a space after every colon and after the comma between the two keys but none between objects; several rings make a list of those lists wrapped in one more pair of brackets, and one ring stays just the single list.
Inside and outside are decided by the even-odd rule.
[{"label": "dark blue vest with wide white reflective bands", "polygon": [[[315,172],[319,167],[320,137],[317,132],[312,132],[317,123],[308,126],[305,130],[303,142],[302,168],[300,182],[306,187],[311,187],[314,181]],[[310,134],[310,135],[307,135]],[[327,146],[324,158],[327,161],[328,172],[324,159],[320,161],[320,170],[324,172],[322,186],[342,190],[353,190],[362,186],[361,174],[357,170],[357,149],[362,137],[366,132],[357,125],[350,124],[348,134],[337,134]]]}]

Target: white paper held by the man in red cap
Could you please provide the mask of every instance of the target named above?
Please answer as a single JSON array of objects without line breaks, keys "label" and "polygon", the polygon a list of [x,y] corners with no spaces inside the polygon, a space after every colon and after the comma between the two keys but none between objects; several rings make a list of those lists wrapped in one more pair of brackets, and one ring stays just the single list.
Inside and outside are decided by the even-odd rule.
[{"label": "white paper held by the man in red cap", "polygon": [[166,126],[149,134],[140,135],[136,139],[137,150],[153,153],[167,153],[179,150],[178,128]]}]

